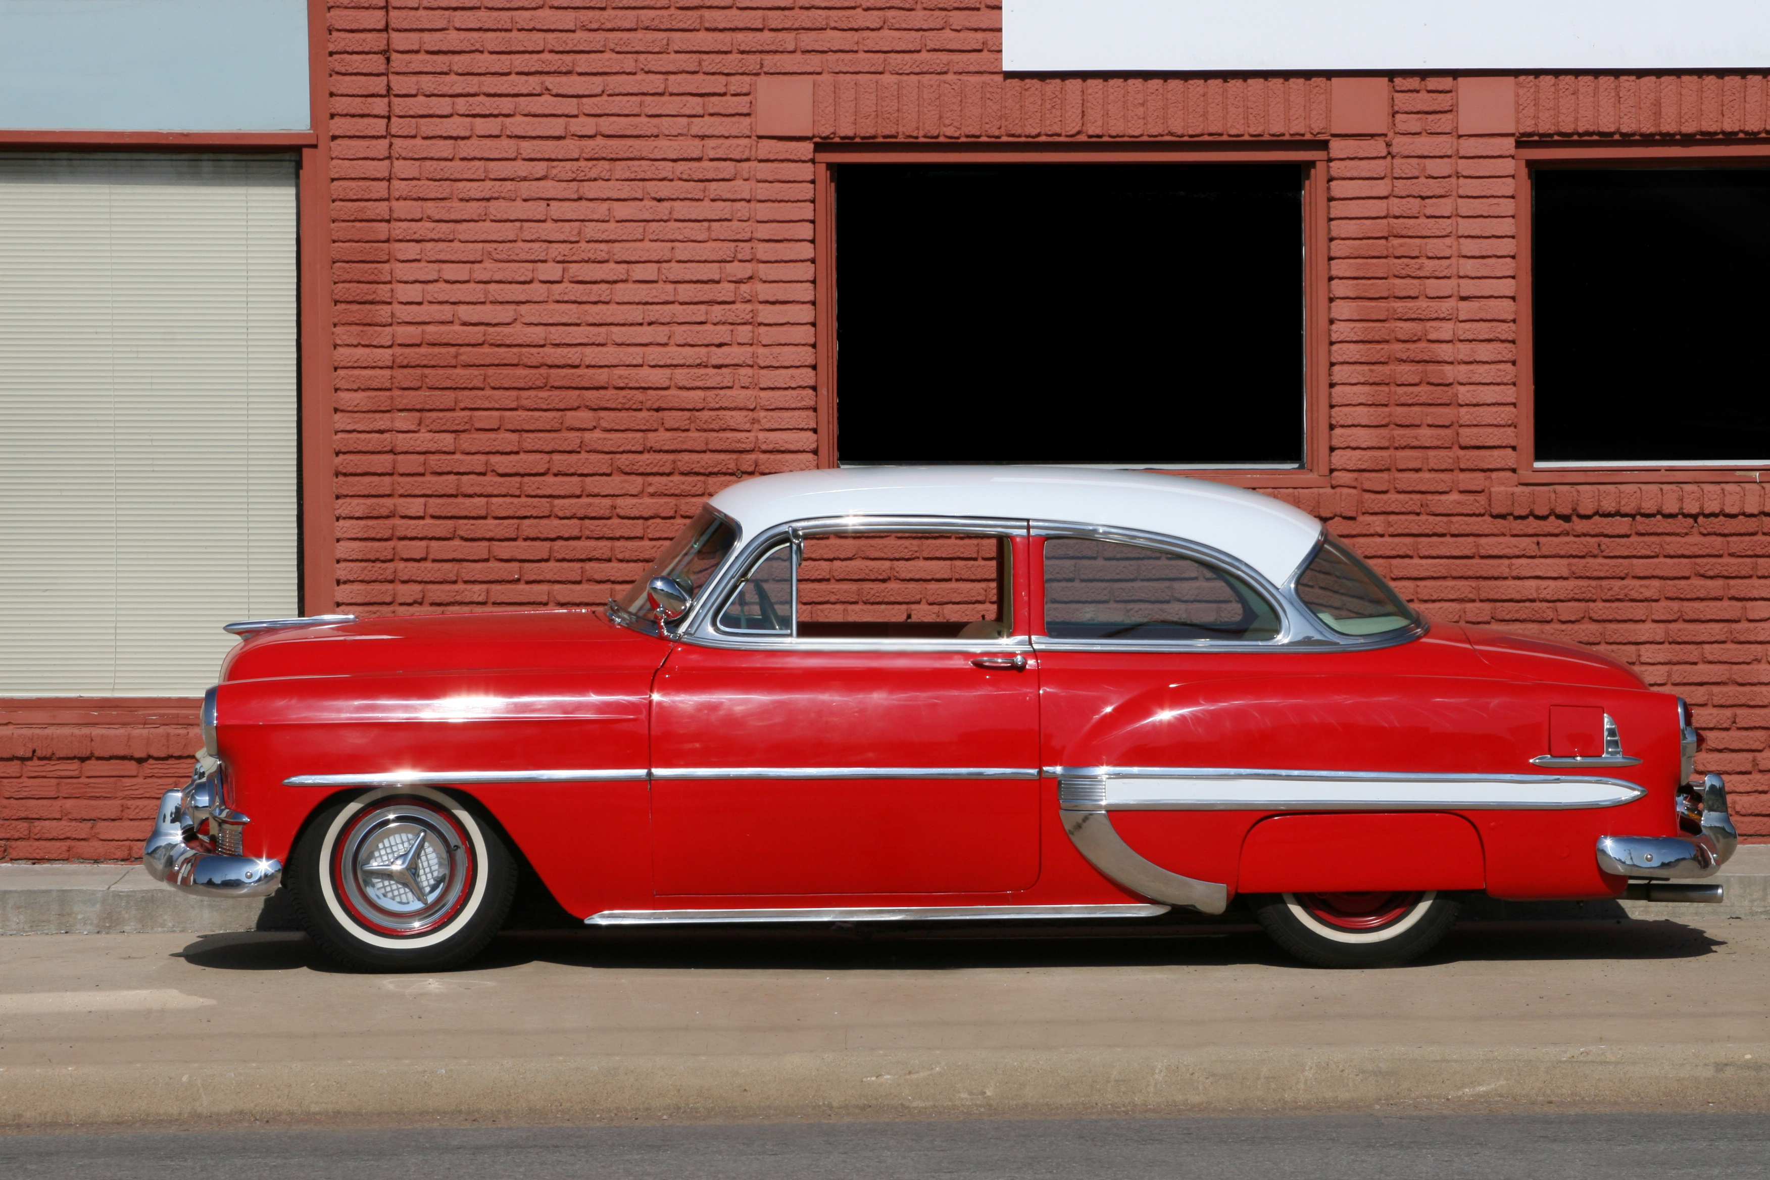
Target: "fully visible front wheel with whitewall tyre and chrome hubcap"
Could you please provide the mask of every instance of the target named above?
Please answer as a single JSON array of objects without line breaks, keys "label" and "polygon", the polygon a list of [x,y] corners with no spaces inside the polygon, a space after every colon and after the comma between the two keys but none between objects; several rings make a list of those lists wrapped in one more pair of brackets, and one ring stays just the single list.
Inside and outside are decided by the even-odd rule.
[{"label": "fully visible front wheel with whitewall tyre and chrome hubcap", "polygon": [[296,842],[301,920],[359,971],[451,968],[480,954],[510,913],[517,865],[492,826],[427,787],[336,800]]}]

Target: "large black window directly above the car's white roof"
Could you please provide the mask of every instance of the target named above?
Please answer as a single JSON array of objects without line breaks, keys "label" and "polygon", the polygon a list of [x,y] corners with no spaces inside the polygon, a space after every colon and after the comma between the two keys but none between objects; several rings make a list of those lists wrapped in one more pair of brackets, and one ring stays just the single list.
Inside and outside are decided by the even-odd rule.
[{"label": "large black window directly above the car's white roof", "polygon": [[839,460],[1299,467],[1303,173],[839,165]]}]

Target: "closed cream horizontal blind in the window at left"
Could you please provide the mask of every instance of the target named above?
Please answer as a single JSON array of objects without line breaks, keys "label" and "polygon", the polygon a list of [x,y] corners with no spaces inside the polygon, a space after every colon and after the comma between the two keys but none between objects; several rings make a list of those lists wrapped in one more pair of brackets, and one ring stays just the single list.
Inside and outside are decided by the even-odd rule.
[{"label": "closed cream horizontal blind in the window at left", "polygon": [[0,695],[198,695],[296,614],[296,166],[0,154]]}]

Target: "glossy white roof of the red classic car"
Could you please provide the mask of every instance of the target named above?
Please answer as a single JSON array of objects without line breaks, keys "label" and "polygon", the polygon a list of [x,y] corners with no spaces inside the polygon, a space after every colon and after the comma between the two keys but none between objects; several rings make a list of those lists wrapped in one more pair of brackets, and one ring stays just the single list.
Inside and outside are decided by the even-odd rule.
[{"label": "glossy white roof of the red classic car", "polygon": [[712,506],[743,536],[814,517],[1000,517],[1142,529],[1209,545],[1283,584],[1322,525],[1207,479],[1087,467],[843,467],[735,483]]}]

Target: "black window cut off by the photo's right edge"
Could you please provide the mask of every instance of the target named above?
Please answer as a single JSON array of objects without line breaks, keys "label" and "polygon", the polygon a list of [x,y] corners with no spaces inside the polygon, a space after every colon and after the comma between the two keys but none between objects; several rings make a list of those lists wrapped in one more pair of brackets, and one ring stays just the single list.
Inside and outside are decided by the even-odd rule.
[{"label": "black window cut off by the photo's right edge", "polygon": [[1536,462],[1770,460],[1770,170],[1531,188]]}]

